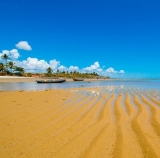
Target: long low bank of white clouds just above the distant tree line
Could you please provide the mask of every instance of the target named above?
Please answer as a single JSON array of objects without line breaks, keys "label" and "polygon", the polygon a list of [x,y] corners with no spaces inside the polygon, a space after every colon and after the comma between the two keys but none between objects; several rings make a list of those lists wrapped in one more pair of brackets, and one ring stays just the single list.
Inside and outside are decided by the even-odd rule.
[{"label": "long low bank of white clouds just above the distant tree line", "polygon": [[[14,50],[16,52],[16,50]],[[13,51],[13,52],[14,52]],[[7,51],[6,51],[7,52]],[[50,60],[49,63],[45,60],[38,60],[37,58],[27,58],[27,60],[23,61],[16,61],[16,65],[23,67],[27,72],[46,72],[48,67],[53,69],[53,72],[56,72],[57,69],[60,71],[79,71],[82,73],[85,72],[97,72],[99,75],[103,76],[111,76],[111,77],[118,77],[118,74],[124,74],[124,70],[116,71],[114,68],[110,67],[107,70],[104,70],[100,67],[98,62],[95,62],[90,67],[86,67],[83,69],[79,69],[78,66],[70,66],[67,68],[64,65],[60,65],[60,61],[56,59]]]}]

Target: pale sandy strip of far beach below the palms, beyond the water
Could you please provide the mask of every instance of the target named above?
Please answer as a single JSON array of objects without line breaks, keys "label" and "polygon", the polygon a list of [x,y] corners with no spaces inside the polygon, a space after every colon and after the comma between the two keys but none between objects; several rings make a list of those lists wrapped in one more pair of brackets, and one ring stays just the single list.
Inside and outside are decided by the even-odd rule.
[{"label": "pale sandy strip of far beach below the palms, beyond the water", "polygon": [[[35,82],[36,80],[41,80],[43,78],[35,78],[35,77],[17,77],[17,76],[0,76],[0,83],[3,82]],[[84,81],[86,82],[94,82],[94,81],[106,81],[111,79],[89,79],[86,78]],[[67,78],[66,82],[74,82],[73,79]]]}]

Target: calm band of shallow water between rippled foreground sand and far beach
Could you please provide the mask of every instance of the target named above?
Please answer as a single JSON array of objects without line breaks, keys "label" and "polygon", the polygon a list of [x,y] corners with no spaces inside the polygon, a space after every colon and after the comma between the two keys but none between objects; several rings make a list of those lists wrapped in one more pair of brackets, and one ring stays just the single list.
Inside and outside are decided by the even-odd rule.
[{"label": "calm band of shallow water between rippled foreground sand and far beach", "polygon": [[112,80],[112,81],[95,81],[95,82],[65,82],[37,84],[36,82],[14,82],[0,83],[1,91],[14,90],[45,90],[45,89],[62,89],[62,88],[79,88],[79,87],[97,87],[97,86],[127,86],[147,89],[160,90],[160,80]]}]

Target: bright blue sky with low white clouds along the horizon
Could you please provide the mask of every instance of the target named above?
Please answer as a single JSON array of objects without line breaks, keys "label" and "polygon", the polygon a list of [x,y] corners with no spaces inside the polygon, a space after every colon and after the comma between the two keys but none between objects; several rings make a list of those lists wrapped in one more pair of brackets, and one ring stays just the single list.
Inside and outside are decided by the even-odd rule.
[{"label": "bright blue sky with low white clouds along the horizon", "polygon": [[[0,53],[16,49],[14,60],[28,71],[44,71],[52,61],[55,70],[159,77],[159,6],[159,0],[1,0]],[[16,47],[20,41],[32,50]]]}]

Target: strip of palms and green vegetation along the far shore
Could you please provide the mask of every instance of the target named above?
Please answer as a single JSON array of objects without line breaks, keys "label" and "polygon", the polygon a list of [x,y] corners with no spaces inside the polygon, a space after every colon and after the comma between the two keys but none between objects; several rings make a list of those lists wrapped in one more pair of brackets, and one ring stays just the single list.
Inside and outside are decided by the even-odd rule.
[{"label": "strip of palms and green vegetation along the far shore", "polygon": [[55,73],[53,72],[51,67],[48,67],[46,69],[46,73],[30,73],[26,72],[24,68],[18,67],[15,65],[14,62],[9,61],[9,57],[7,54],[3,54],[1,58],[4,60],[4,62],[0,62],[0,75],[16,75],[16,76],[27,76],[27,77],[52,77],[52,78],[94,78],[94,79],[100,79],[100,78],[109,78],[109,77],[103,77],[98,75],[96,72],[91,73],[81,73],[78,71],[60,71],[57,70]]}]

